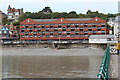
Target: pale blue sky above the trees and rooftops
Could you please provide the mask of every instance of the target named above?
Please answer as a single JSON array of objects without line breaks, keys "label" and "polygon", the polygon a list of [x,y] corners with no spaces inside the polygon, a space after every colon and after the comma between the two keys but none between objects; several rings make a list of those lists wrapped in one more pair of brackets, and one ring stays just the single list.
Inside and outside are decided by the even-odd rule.
[{"label": "pale blue sky above the trees and rooftops", "polygon": [[8,5],[24,8],[24,12],[38,12],[49,6],[53,12],[86,13],[87,10],[101,13],[118,13],[119,0],[0,0],[0,10],[7,13]]}]

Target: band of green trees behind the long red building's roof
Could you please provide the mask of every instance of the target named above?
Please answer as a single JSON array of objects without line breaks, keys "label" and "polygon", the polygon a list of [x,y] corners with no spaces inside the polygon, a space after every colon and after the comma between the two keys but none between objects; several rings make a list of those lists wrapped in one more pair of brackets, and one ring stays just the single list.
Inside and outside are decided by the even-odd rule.
[{"label": "band of green trees behind the long red building's roof", "polygon": [[[45,7],[42,11],[46,11],[46,9],[50,9],[50,7]],[[18,19],[18,21],[23,21],[27,18],[32,18],[32,19],[56,19],[56,18],[94,18],[94,17],[100,17],[104,20],[108,20],[110,17],[115,17],[118,14],[104,14],[104,13],[99,13],[98,11],[91,11],[88,10],[86,14],[79,13],[77,14],[75,11],[71,11],[69,13],[67,12],[52,12],[49,14],[45,14],[42,11],[39,12],[25,12],[23,15],[21,15]],[[51,10],[52,11],[52,10]]]}]

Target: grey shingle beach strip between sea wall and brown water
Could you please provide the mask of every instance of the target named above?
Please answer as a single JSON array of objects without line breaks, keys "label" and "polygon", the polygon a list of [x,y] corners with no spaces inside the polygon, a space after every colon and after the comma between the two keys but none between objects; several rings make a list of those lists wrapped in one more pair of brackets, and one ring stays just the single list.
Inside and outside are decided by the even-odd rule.
[{"label": "grey shingle beach strip between sea wall and brown water", "polygon": [[1,48],[2,56],[104,56],[104,50],[92,47],[69,49],[53,48]]}]

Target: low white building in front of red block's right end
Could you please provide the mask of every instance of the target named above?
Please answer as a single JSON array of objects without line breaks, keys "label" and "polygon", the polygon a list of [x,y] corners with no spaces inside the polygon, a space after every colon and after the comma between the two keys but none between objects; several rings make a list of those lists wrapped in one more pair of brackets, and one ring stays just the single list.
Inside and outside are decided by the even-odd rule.
[{"label": "low white building in front of red block's right end", "polygon": [[114,35],[91,35],[89,43],[93,44],[107,44],[108,41],[113,41]]}]

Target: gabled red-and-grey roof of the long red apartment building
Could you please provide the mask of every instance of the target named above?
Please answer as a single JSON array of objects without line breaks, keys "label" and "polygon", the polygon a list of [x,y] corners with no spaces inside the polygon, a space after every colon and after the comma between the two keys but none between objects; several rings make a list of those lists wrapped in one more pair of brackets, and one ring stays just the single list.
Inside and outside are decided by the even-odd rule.
[{"label": "gabled red-and-grey roof of the long red apartment building", "polygon": [[59,19],[26,19],[21,24],[55,24],[55,23],[105,23],[106,21],[95,18],[59,18]]}]

